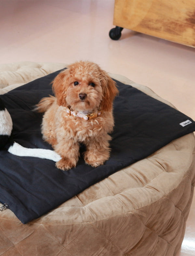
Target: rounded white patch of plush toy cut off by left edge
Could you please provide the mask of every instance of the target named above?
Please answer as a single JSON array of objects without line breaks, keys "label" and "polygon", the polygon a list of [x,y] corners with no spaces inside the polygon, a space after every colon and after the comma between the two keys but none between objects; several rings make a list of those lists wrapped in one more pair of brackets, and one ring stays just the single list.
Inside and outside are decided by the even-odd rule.
[{"label": "rounded white patch of plush toy cut off by left edge", "polygon": [[0,135],[10,136],[12,131],[12,120],[9,112],[5,110],[0,111]]}]

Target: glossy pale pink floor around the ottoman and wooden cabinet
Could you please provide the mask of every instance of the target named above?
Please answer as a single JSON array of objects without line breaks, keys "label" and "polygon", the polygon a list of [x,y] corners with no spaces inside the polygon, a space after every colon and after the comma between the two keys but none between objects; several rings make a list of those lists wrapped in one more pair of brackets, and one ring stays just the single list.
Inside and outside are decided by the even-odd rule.
[{"label": "glossy pale pink floor around the ottoman and wooden cabinet", "polygon": [[[195,120],[195,48],[127,29],[113,41],[113,10],[113,0],[0,1],[0,63],[94,61]],[[195,255],[195,199],[178,255]]]}]

